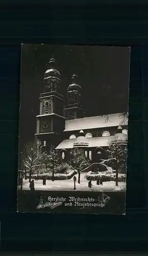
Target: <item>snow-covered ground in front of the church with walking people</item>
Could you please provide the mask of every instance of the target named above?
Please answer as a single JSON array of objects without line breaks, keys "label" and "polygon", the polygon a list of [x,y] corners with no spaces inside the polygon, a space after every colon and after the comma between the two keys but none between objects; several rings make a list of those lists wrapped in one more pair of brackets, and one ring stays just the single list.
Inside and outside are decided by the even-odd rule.
[{"label": "snow-covered ground in front of the church with walking people", "polygon": [[[92,188],[88,187],[88,180],[85,179],[86,174],[81,174],[81,182],[78,184],[78,175],[76,181],[76,191],[126,191],[126,182],[118,182],[118,186],[115,186],[114,181],[104,182],[103,185],[96,185],[96,181],[92,181]],[[34,180],[35,190],[63,190],[72,191],[74,187],[73,177],[70,180],[46,180],[46,185],[42,184],[42,180]],[[28,190],[30,183],[29,180],[23,180],[22,189]],[[20,189],[20,186],[18,186]]]}]

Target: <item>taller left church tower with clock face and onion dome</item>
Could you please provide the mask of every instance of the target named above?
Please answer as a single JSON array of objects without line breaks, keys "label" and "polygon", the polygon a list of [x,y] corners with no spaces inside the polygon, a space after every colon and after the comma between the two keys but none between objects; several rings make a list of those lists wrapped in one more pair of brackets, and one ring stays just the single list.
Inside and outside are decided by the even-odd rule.
[{"label": "taller left church tower with clock face and onion dome", "polygon": [[63,95],[60,91],[60,72],[56,67],[56,60],[50,59],[48,70],[45,72],[44,93],[40,94],[40,113],[37,118],[37,144],[46,151],[53,150],[61,141],[65,128],[63,116]]}]

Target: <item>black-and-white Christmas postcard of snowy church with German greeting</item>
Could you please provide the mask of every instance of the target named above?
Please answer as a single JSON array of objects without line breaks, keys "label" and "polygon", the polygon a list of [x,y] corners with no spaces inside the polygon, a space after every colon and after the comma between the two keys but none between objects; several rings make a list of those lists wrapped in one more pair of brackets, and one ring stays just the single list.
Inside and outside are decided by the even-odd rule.
[{"label": "black-and-white Christmas postcard of snowy church with German greeting", "polygon": [[20,212],[125,214],[130,48],[21,46]]}]

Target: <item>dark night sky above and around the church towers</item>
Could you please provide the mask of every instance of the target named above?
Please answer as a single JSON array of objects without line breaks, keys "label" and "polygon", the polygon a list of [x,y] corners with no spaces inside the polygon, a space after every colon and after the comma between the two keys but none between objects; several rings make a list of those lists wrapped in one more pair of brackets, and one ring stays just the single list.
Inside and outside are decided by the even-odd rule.
[{"label": "dark night sky above and around the church towers", "polygon": [[20,144],[34,140],[44,73],[54,55],[67,95],[71,76],[78,75],[85,116],[127,111],[130,49],[128,47],[22,45],[20,82]]}]

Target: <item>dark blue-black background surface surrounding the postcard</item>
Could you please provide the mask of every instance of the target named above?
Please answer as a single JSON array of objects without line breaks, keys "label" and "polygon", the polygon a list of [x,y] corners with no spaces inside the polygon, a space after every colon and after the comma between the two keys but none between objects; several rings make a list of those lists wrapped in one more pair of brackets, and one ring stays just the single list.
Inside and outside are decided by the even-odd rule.
[{"label": "dark blue-black background surface surrounding the postcard", "polygon": [[[1,251],[9,250],[9,255],[29,250],[40,255],[44,251],[78,255],[80,251],[148,250],[148,10],[142,6],[144,1],[100,2],[0,3]],[[22,42],[131,46],[126,215],[16,212]]]}]

